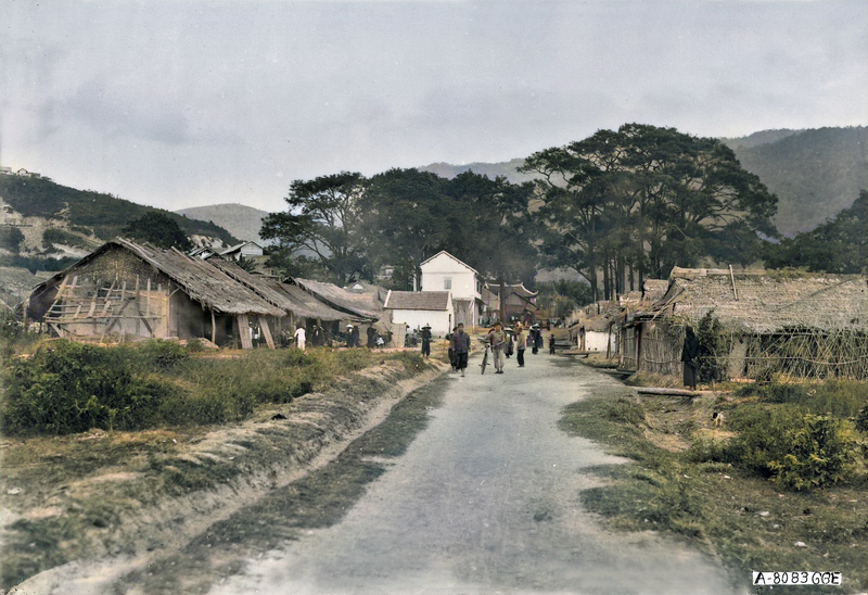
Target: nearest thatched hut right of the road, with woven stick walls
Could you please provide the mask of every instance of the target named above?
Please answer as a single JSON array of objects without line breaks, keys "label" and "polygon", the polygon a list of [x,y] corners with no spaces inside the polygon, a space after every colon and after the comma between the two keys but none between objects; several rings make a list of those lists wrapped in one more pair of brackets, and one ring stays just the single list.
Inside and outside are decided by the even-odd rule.
[{"label": "nearest thatched hut right of the road, with woven stick walls", "polygon": [[788,270],[675,267],[665,295],[625,317],[621,367],[679,376],[685,326],[706,315],[722,378],[868,378],[866,278]]}]

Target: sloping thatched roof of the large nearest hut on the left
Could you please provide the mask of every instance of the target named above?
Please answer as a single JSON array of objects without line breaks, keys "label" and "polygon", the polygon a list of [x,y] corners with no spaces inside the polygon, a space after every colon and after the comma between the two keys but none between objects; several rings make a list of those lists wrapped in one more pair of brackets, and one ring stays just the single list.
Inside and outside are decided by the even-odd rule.
[{"label": "sloping thatched roof of the large nearest hut on the left", "polygon": [[255,314],[259,316],[285,316],[286,313],[268,303],[252,289],[201,258],[188,256],[176,249],[144,246],[115,238],[81,258],[64,271],[43,281],[34,290],[34,295],[55,284],[69,271],[80,268],[111,250],[125,250],[148,263],[178,284],[191,300],[204,307],[224,314]]}]

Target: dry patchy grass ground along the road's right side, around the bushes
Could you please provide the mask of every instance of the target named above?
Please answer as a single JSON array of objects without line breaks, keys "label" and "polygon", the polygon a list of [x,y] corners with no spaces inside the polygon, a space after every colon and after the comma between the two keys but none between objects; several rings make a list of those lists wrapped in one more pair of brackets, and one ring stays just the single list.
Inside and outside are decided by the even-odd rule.
[{"label": "dry patchy grass ground along the road's right side, around the bushes", "polygon": [[[569,407],[562,427],[630,457],[633,465],[599,473],[610,485],[582,494],[613,528],[677,534],[722,559],[745,588],[751,570],[834,570],[843,588],[792,587],[775,593],[857,593],[868,590],[868,482],[808,492],[781,492],[774,483],[724,463],[695,463],[694,441],[726,443],[735,432],[711,412],[748,401],[731,394],[695,398],[634,396],[638,422],[612,415],[630,397],[598,394]],[[618,405],[624,408],[624,405]],[[796,545],[796,544],[804,544]]]}]

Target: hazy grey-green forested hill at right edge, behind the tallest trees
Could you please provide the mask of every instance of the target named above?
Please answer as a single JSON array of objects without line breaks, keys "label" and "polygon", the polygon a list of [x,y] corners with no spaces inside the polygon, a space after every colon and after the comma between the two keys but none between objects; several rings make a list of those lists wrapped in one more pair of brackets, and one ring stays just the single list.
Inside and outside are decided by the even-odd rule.
[{"label": "hazy grey-green forested hill at right edge, behind the tallest trees", "polygon": [[741,165],[778,195],[775,224],[786,236],[814,229],[868,190],[868,127],[796,131],[755,147],[737,140],[726,142]]}]

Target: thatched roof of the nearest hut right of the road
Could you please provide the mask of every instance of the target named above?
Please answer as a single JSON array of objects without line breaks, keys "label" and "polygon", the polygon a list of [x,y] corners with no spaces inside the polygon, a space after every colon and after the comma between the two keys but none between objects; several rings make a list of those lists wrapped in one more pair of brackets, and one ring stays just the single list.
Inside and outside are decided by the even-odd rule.
[{"label": "thatched roof of the nearest hut right of the road", "polygon": [[861,275],[676,267],[666,294],[643,315],[697,322],[711,311],[725,328],[757,333],[797,327],[868,331],[868,283]]}]

